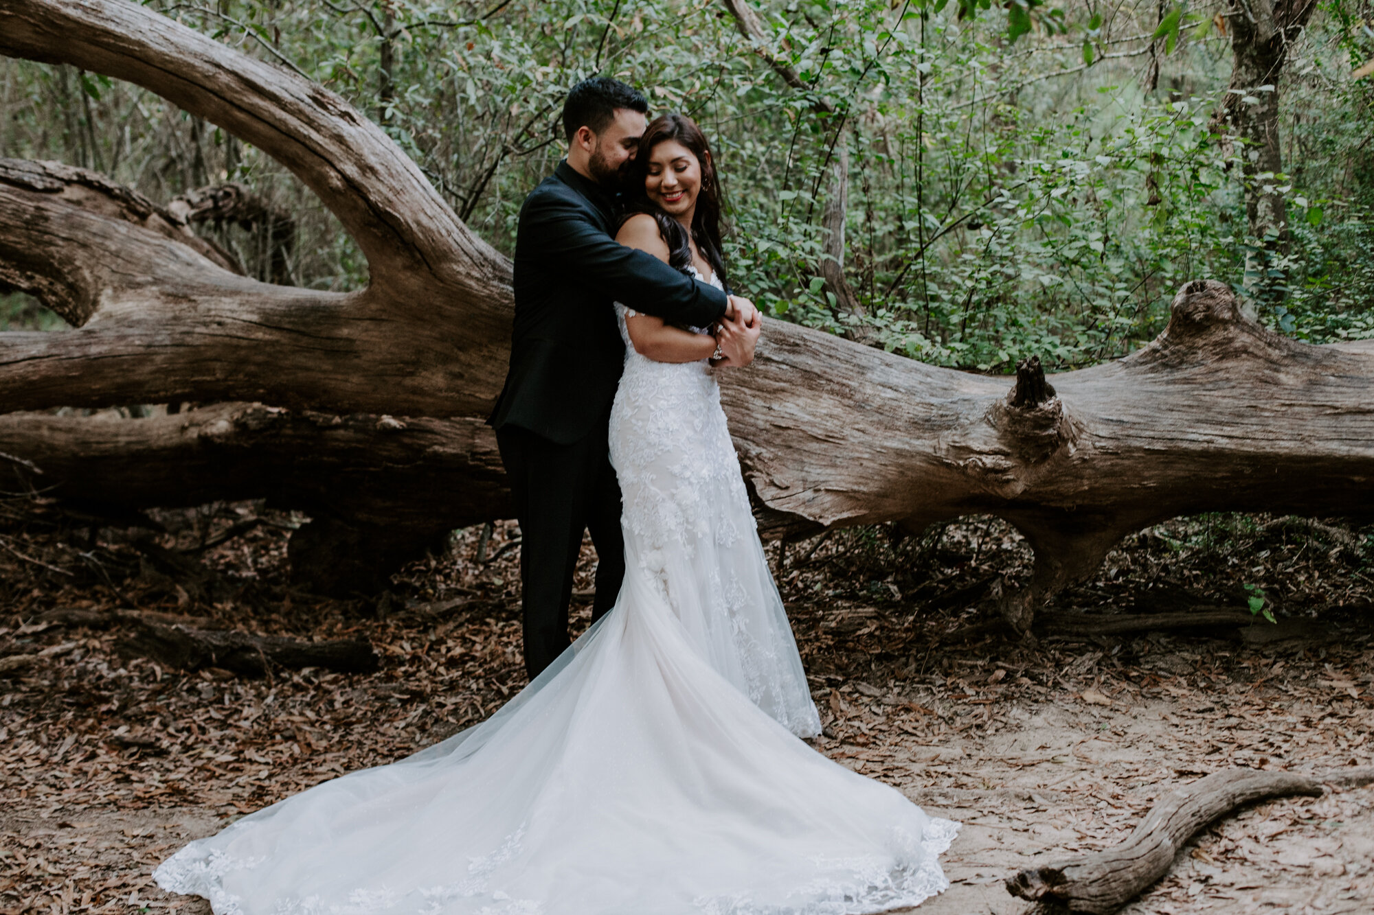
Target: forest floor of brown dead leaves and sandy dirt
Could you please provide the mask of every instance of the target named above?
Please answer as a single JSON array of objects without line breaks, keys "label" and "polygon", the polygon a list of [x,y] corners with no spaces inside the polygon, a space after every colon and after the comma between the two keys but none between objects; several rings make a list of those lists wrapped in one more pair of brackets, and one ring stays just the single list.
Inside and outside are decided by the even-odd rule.
[{"label": "forest floor of brown dead leaves and sandy dirt", "polygon": [[[525,683],[510,523],[485,544],[482,526],[458,532],[381,599],[333,600],[286,584],[300,517],[258,504],[153,514],[162,530],[0,500],[0,912],[206,912],[151,882],[181,844],[433,743]],[[1293,518],[1169,522],[1052,610],[1162,625],[1260,598],[1278,622],[1146,620],[1073,637],[1050,626],[1036,643],[1009,637],[995,614],[998,576],[1029,569],[998,521],[904,540],[840,532],[769,554],[826,721],[816,747],[963,823],[944,859],[954,885],[919,911],[1022,914],[1032,907],[1003,878],[1120,842],[1180,783],[1230,767],[1374,764],[1371,534]],[[578,626],[592,561],[584,551]],[[43,620],[63,609],[95,611],[92,625]],[[164,669],[128,647],[137,624],[121,609],[363,636],[381,669]],[[1363,787],[1223,819],[1124,911],[1367,914],[1370,900]]]}]

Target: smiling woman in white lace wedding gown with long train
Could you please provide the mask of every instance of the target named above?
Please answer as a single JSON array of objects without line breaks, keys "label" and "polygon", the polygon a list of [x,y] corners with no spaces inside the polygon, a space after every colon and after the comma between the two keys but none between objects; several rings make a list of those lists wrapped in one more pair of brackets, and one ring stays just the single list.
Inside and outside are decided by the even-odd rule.
[{"label": "smiling woman in white lace wedding gown with long train", "polygon": [[[705,136],[661,117],[635,168],[618,240],[724,289]],[[482,724],[191,842],[159,886],[220,915],[851,915],[948,886],[958,824],[798,739],[820,721],[712,375],[747,328],[617,312],[614,610]]]}]

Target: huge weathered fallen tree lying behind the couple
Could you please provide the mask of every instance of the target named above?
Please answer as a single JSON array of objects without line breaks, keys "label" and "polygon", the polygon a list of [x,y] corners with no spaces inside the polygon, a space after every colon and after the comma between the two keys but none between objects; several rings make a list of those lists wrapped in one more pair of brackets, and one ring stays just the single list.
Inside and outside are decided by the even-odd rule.
[{"label": "huge weathered fallen tree lying behind the couple", "polygon": [[[140,221],[92,201],[92,181],[11,163],[0,283],[77,328],[0,334],[4,408],[242,403],[118,423],[12,414],[0,452],[44,470],[52,492],[125,507],[269,496],[305,508],[316,523],[293,536],[293,561],[344,591],[506,512],[481,420],[506,370],[510,264],[385,133],[137,4],[14,0],[0,52],[139,82],[254,143],[320,195],[371,271],[349,294],[258,283],[185,240],[174,216]],[[1171,517],[1374,515],[1374,343],[1286,339],[1209,280],[1179,291],[1146,349],[1052,383],[1033,363],[1011,382],[772,320],[754,365],[721,378],[765,534],[999,515],[1036,555],[1030,583],[1002,598],[1021,631],[1121,536]]]}]

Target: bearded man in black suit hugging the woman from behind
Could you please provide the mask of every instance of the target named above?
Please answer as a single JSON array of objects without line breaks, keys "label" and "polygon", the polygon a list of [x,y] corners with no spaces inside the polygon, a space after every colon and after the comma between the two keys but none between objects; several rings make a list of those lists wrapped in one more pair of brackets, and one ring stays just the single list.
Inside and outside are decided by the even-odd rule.
[{"label": "bearded man in black suit hugging the woman from behind", "polygon": [[598,559],[594,621],[616,603],[625,574],[620,484],[607,455],[607,420],[625,363],[611,304],[680,326],[757,321],[749,300],[616,242],[617,194],[647,111],[644,96],[624,82],[594,77],[573,87],[563,103],[567,158],[519,213],[511,365],[488,422],[519,518],[530,679],[569,644],[567,605],[584,530]]}]

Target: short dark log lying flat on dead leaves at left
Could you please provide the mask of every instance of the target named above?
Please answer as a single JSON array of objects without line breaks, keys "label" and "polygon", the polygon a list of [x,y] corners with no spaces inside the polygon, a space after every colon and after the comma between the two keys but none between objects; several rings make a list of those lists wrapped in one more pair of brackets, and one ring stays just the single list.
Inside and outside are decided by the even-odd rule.
[{"label": "short dark log lying flat on dead leaves at left", "polygon": [[376,653],[367,639],[302,642],[143,621],[137,632],[120,640],[115,648],[121,654],[153,658],[179,670],[221,668],[250,677],[267,675],[269,665],[324,668],[339,673],[376,670]]}]

